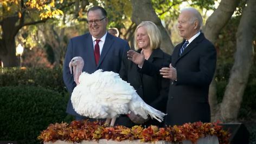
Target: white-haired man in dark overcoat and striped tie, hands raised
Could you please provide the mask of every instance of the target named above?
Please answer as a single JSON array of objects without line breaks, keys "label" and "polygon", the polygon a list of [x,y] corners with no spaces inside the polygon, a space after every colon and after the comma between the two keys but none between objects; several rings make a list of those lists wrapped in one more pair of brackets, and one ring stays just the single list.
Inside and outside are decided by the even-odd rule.
[{"label": "white-haired man in dark overcoat and striped tie, hands raised", "polygon": [[202,16],[194,8],[181,11],[178,29],[184,41],[178,44],[169,68],[160,74],[171,79],[165,125],[210,122],[209,85],[216,68],[216,50],[200,31]]}]

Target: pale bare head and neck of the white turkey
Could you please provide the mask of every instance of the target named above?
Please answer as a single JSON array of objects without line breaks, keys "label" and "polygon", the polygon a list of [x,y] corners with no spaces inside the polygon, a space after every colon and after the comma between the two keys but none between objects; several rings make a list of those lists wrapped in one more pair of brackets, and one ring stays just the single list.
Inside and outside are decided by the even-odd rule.
[{"label": "pale bare head and neck of the white turkey", "polygon": [[71,74],[73,71],[74,81],[76,84],[79,84],[78,79],[82,73],[83,67],[84,67],[84,60],[82,60],[82,57],[80,56],[73,57],[71,62],[69,62],[69,69]]}]

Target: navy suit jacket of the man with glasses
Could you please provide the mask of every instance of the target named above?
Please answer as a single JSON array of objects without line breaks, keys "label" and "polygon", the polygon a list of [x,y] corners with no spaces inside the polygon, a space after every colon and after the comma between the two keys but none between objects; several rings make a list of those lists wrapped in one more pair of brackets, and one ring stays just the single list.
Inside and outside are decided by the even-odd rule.
[{"label": "navy suit jacket of the man with glasses", "polygon": [[[72,94],[72,91],[76,86],[73,74],[70,73],[68,67],[69,62],[73,57],[81,56],[84,59],[85,65],[82,71],[86,71],[87,73],[91,74],[98,69],[119,73],[121,61],[123,58],[126,59],[126,52],[129,49],[130,46],[126,41],[107,33],[103,50],[101,51],[99,64],[97,66],[94,58],[92,35],[87,33],[85,35],[72,38],[69,41],[65,62],[63,64],[63,80],[69,93]],[[74,116],[80,116],[74,111],[70,97],[67,105],[67,113]]]}]

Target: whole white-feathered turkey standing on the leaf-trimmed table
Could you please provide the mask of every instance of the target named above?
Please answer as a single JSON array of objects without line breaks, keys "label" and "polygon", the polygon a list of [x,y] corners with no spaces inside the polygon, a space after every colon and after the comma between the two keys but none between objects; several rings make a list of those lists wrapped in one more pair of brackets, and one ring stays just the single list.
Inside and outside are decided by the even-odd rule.
[{"label": "whole white-feathered turkey standing on the leaf-trimmed table", "polygon": [[111,126],[114,126],[118,115],[128,114],[130,111],[143,119],[150,115],[159,122],[163,121],[165,114],[146,104],[136,90],[117,73],[103,72],[101,69],[92,74],[82,72],[82,57],[72,58],[69,67],[71,73],[73,67],[74,81],[77,84],[71,96],[76,113],[93,119],[106,118],[106,124],[111,120]]}]

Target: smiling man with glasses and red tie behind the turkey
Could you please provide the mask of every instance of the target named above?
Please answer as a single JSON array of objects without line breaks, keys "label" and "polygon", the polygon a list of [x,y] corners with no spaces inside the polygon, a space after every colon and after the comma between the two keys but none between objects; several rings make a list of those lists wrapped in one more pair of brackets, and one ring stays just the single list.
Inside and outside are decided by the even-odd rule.
[{"label": "smiling man with glasses and red tie behind the turkey", "polygon": [[[121,38],[115,37],[107,32],[107,12],[100,6],[93,6],[87,12],[87,24],[89,33],[72,38],[69,41],[63,64],[63,80],[72,94],[74,77],[70,73],[68,64],[75,56],[81,56],[85,65],[82,71],[93,73],[98,69],[114,71],[119,73],[121,61],[126,58],[126,52],[130,49],[129,44]],[[70,97],[66,112],[74,115],[76,120],[84,117],[77,114],[72,106]]]}]

